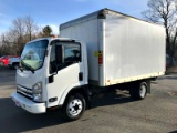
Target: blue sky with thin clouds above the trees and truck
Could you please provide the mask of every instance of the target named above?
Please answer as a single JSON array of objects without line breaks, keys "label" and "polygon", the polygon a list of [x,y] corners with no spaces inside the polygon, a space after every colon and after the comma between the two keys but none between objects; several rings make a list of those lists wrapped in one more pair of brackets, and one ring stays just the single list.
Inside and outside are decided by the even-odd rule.
[{"label": "blue sky with thin clouds above the trees and truck", "polygon": [[0,34],[9,30],[14,19],[27,16],[59,33],[61,23],[103,8],[142,18],[147,0],[0,0]]}]

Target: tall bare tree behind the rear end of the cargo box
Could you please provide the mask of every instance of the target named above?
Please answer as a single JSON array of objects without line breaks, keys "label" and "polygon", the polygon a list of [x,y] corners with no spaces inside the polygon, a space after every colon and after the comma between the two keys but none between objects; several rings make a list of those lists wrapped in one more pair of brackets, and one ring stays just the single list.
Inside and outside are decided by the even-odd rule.
[{"label": "tall bare tree behind the rear end of the cargo box", "polygon": [[177,40],[177,0],[149,0],[143,13],[147,21],[164,24],[167,53],[174,58]]}]

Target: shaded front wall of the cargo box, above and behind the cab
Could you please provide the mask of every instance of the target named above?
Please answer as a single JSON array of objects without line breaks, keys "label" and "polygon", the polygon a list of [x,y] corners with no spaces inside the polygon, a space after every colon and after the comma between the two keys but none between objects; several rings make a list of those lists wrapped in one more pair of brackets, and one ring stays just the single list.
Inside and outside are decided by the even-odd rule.
[{"label": "shaded front wall of the cargo box, above and behind the cab", "polygon": [[98,32],[97,32],[97,18],[84,19],[84,21],[70,23],[70,27],[62,25],[60,31],[62,38],[71,38],[84,41],[87,48],[88,60],[88,79],[92,84],[98,84]]}]

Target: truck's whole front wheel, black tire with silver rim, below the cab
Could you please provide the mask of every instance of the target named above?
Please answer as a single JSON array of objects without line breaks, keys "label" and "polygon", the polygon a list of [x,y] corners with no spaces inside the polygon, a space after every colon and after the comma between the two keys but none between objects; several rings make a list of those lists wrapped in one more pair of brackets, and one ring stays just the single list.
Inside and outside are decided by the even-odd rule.
[{"label": "truck's whole front wheel, black tire with silver rim, below the cab", "polygon": [[80,119],[86,109],[86,102],[82,94],[75,93],[70,95],[63,106],[65,119],[74,121]]}]

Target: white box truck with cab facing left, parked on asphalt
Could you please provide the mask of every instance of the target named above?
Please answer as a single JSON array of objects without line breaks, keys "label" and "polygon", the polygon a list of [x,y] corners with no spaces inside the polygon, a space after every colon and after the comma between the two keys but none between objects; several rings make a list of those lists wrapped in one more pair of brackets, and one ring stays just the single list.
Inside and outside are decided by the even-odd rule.
[{"label": "white box truck with cab facing left, parked on asphalt", "polygon": [[144,99],[150,80],[165,73],[160,25],[102,9],[61,24],[60,35],[33,40],[22,52],[11,95],[31,113],[60,106],[76,120],[90,108],[94,90],[126,88]]}]

